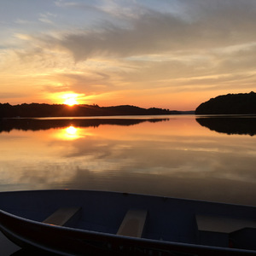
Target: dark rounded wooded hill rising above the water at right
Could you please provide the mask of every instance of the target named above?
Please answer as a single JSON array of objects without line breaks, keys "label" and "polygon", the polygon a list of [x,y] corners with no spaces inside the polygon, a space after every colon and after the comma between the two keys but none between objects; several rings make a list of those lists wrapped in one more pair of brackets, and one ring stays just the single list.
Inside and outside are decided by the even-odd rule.
[{"label": "dark rounded wooded hill rising above the water at right", "polygon": [[217,96],[201,103],[195,114],[256,114],[256,93]]}]

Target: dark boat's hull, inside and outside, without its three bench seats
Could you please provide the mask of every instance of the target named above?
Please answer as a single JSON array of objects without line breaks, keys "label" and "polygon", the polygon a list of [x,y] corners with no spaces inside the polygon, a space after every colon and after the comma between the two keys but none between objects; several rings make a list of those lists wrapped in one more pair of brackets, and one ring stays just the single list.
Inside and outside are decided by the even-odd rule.
[{"label": "dark boat's hull, inside and outside, without its three bench seats", "polygon": [[[81,216],[75,224],[58,226],[43,223],[50,212],[63,206],[82,207]],[[255,221],[255,207],[114,192],[42,190],[2,192],[0,208],[0,229],[11,241],[20,247],[36,247],[61,255],[256,253],[256,248],[253,248],[256,229],[249,229],[248,234],[254,237],[251,237],[248,248],[242,243],[239,247],[233,244],[233,248],[214,246],[211,241],[209,244],[201,243],[195,221],[195,215],[199,213]],[[125,212],[131,208],[148,210],[145,232],[139,238],[116,235]]]}]

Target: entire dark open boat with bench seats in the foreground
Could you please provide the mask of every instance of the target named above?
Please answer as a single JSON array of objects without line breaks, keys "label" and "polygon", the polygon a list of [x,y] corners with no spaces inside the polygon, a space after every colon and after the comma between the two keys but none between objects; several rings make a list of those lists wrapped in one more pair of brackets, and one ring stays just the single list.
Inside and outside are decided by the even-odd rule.
[{"label": "entire dark open boat with bench seats in the foreground", "polygon": [[256,255],[256,207],[95,190],[0,192],[0,230],[60,255]]}]

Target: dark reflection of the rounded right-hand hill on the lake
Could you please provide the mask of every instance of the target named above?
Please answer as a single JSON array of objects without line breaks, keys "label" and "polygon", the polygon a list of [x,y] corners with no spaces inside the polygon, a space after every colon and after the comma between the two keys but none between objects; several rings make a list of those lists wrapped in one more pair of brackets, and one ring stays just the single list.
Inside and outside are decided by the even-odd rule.
[{"label": "dark reflection of the rounded right-hand hill on the lake", "polygon": [[206,117],[196,121],[210,129],[221,133],[256,135],[256,117]]}]

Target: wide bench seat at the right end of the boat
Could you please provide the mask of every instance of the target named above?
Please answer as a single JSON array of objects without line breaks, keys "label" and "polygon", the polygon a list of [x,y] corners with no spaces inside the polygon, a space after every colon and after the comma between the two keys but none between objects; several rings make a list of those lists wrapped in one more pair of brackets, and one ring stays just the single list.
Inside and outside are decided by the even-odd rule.
[{"label": "wide bench seat at the right end of the boat", "polygon": [[244,228],[256,228],[256,222],[241,218],[223,218],[211,215],[196,215],[199,231],[212,231],[230,234]]}]

